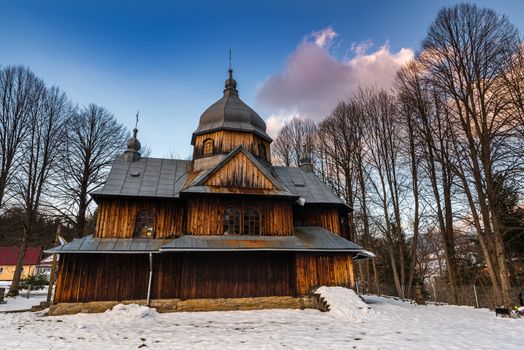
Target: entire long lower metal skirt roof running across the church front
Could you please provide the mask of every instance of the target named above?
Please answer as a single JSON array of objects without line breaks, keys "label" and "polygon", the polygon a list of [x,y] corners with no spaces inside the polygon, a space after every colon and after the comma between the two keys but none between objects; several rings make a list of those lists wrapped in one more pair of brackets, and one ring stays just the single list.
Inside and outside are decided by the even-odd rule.
[{"label": "entire long lower metal skirt roof running across the church front", "polygon": [[293,236],[184,235],[175,239],[76,238],[46,250],[49,254],[139,254],[161,252],[290,251],[353,253],[356,259],[372,257],[359,245],[317,226],[297,226]]}]

